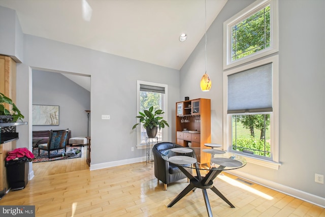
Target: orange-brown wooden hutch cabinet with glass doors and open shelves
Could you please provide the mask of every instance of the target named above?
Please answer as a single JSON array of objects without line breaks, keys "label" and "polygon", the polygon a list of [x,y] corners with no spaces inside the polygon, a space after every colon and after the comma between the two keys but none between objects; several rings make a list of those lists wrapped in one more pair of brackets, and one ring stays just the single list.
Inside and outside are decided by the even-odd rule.
[{"label": "orange-brown wooden hutch cabinet with glass doors and open shelves", "polygon": [[[186,129],[186,130],[185,130]],[[211,155],[203,152],[204,143],[211,142],[211,101],[194,99],[176,103],[176,143],[190,146],[200,164],[210,162]]]}]

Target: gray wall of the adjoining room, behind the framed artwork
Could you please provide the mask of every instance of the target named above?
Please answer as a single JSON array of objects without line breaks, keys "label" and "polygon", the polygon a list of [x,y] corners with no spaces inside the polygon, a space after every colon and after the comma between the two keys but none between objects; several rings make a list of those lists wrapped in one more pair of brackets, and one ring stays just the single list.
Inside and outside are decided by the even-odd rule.
[{"label": "gray wall of the adjoining room, behind the framed artwork", "polygon": [[32,126],[34,131],[69,128],[72,137],[87,136],[90,92],[62,74],[32,70],[32,104],[59,106],[59,125]]}]

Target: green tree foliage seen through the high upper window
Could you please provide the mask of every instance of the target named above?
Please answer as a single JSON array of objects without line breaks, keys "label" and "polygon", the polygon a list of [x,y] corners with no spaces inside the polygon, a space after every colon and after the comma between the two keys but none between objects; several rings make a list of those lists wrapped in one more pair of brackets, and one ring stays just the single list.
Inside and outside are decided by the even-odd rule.
[{"label": "green tree foliage seen through the high upper window", "polygon": [[232,27],[232,60],[270,47],[270,6]]}]

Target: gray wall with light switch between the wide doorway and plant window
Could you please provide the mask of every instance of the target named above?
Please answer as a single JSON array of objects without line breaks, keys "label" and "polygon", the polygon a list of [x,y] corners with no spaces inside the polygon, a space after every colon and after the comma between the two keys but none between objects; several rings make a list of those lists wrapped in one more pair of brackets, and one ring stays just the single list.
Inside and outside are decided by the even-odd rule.
[{"label": "gray wall with light switch between the wide doorway and plant window", "polygon": [[[24,64],[32,68],[91,75],[92,165],[145,156],[143,149],[131,151],[137,144],[136,131],[132,131],[137,80],[168,84],[168,103],[173,105],[179,96],[177,70],[29,35],[24,44]],[[168,112],[175,114],[174,106]],[[102,114],[111,119],[102,120]],[[168,121],[173,122],[172,115]]]}]

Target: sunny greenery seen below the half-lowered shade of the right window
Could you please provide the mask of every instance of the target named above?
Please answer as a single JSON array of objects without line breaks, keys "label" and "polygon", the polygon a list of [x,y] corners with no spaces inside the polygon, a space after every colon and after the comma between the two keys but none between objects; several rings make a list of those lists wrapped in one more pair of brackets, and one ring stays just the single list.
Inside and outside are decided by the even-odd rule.
[{"label": "sunny greenery seen below the half-lowered shade of the right window", "polygon": [[270,114],[233,115],[233,150],[271,157],[269,127]]}]

